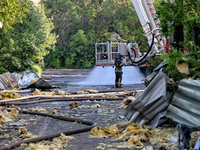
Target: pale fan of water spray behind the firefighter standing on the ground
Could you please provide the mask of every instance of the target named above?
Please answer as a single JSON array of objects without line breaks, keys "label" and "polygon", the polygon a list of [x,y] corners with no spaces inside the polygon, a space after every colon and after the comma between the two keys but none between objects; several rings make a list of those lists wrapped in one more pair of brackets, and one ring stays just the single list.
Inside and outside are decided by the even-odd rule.
[{"label": "pale fan of water spray behind the firefighter standing on the ground", "polygon": [[[122,68],[122,84],[142,84],[144,75],[138,67],[124,66]],[[89,76],[78,85],[114,85],[115,84],[115,68],[112,66],[96,66]]]}]

